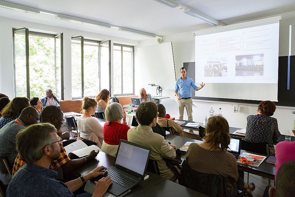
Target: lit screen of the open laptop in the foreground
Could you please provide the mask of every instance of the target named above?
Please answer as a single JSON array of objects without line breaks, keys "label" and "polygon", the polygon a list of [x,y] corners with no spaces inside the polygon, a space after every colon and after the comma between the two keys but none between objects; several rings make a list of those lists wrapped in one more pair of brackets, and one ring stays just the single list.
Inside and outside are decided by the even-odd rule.
[{"label": "lit screen of the open laptop in the foreground", "polygon": [[148,159],[149,150],[122,141],[117,152],[115,164],[144,175]]}]

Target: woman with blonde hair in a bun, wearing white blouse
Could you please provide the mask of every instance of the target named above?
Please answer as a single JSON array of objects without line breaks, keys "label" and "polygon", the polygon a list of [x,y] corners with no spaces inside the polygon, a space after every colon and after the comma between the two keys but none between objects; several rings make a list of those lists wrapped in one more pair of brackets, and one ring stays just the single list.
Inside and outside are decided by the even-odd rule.
[{"label": "woman with blonde hair in a bun, wearing white blouse", "polygon": [[77,126],[80,130],[80,137],[91,140],[101,148],[102,141],[104,140],[104,128],[101,124],[91,115],[96,111],[96,101],[89,97],[84,97],[82,102],[83,115],[78,118]]}]

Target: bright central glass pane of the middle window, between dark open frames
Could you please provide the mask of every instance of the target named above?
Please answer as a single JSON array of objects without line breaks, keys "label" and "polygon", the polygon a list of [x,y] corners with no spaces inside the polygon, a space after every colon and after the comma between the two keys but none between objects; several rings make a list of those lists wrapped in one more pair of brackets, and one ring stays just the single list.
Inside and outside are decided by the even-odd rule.
[{"label": "bright central glass pane of the middle window, between dark open frames", "polygon": [[99,43],[84,41],[84,97],[99,93]]}]

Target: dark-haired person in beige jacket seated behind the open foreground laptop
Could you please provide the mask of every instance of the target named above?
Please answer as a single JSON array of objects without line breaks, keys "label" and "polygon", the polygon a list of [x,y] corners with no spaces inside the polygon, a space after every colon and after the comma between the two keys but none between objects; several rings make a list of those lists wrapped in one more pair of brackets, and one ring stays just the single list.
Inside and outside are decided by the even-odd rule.
[{"label": "dark-haired person in beige jacket seated behind the open foreground laptop", "polygon": [[166,143],[163,136],[153,133],[151,129],[157,123],[157,110],[157,105],[152,101],[141,103],[136,111],[139,125],[128,130],[127,138],[130,142],[150,147],[150,159],[157,160],[160,175],[171,181],[176,181],[177,177],[174,171],[167,166],[163,158],[174,159],[177,148],[175,145]]}]

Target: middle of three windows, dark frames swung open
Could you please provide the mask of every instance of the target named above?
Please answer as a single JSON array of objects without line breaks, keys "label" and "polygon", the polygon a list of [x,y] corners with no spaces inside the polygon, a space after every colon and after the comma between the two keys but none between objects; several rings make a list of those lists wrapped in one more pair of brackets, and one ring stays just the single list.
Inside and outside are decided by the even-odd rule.
[{"label": "middle of three windows, dark frames swung open", "polygon": [[110,41],[72,37],[72,98],[94,97],[101,89],[110,90],[109,68]]}]

